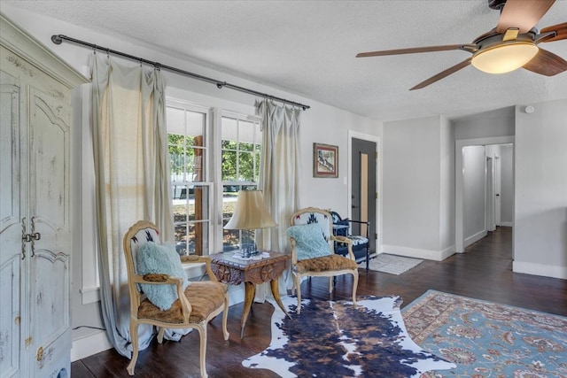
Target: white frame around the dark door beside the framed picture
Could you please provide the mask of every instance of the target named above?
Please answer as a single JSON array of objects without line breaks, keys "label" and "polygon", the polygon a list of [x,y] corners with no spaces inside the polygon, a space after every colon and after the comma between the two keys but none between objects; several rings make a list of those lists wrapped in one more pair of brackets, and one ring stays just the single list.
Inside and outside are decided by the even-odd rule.
[{"label": "white frame around the dark door beside the framed picture", "polygon": [[353,210],[352,210],[352,205],[353,205],[353,200],[352,200],[352,195],[353,195],[353,189],[352,189],[352,183],[353,183],[353,138],[354,139],[361,139],[363,141],[368,141],[368,142],[374,142],[376,143],[376,152],[377,152],[377,165],[376,165],[376,190],[378,193],[378,197],[377,197],[377,201],[376,201],[376,221],[374,222],[374,225],[371,225],[370,227],[374,229],[374,232],[377,235],[377,239],[376,239],[376,253],[382,253],[382,159],[381,159],[381,155],[380,155],[380,151],[382,150],[382,140],[379,136],[377,135],[370,135],[370,134],[365,134],[365,133],[361,133],[359,131],[354,131],[354,130],[348,130],[347,132],[348,135],[348,144],[347,144],[347,151],[346,151],[346,156],[348,158],[348,161],[346,163],[346,198],[347,198],[347,204],[346,204],[346,208],[348,209],[348,218],[352,218],[353,216]]}]

